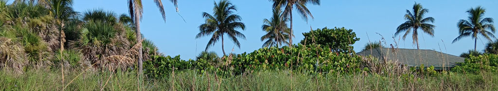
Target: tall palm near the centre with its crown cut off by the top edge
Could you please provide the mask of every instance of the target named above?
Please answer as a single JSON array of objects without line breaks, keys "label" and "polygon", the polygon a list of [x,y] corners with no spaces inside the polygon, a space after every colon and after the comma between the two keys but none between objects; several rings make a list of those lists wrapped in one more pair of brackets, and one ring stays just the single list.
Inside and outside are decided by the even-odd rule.
[{"label": "tall palm near the centre with its crown cut off by the top edge", "polygon": [[311,3],[314,5],[320,5],[320,0],[270,0],[273,2],[273,9],[284,7],[282,15],[284,17],[290,17],[290,33],[289,33],[289,45],[292,45],[292,36],[293,28],[292,28],[292,9],[296,8],[297,12],[301,15],[304,20],[308,20],[308,15],[311,18],[314,18],[311,12],[309,11],[306,4]]}]

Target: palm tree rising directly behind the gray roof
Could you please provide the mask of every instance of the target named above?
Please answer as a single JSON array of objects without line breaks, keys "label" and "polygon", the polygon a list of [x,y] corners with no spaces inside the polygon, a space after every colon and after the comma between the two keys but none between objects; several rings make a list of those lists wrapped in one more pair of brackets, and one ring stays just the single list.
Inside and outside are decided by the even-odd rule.
[{"label": "palm tree rising directly behind the gray roof", "polygon": [[429,9],[423,8],[420,3],[415,3],[413,4],[413,12],[410,12],[410,10],[406,9],[406,14],[404,15],[406,22],[402,23],[396,28],[396,33],[394,33],[394,36],[398,35],[401,32],[405,32],[403,35],[403,40],[406,39],[406,35],[410,33],[410,31],[413,29],[413,44],[417,44],[417,49],[420,49],[418,45],[418,29],[422,29],[424,33],[427,33],[434,37],[434,27],[435,25],[429,24],[434,23],[434,18],[433,17],[427,17],[424,18],[424,14],[429,12]]}]

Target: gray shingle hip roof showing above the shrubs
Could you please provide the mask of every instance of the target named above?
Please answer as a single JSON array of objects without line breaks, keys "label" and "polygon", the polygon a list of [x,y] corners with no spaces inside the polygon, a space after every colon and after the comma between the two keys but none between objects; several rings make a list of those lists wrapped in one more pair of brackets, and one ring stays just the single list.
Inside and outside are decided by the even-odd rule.
[{"label": "gray shingle hip roof showing above the shrubs", "polygon": [[372,55],[375,58],[389,61],[399,61],[409,67],[434,66],[454,67],[457,62],[464,62],[465,58],[425,49],[392,49],[392,48],[375,48],[357,53],[360,56]]}]

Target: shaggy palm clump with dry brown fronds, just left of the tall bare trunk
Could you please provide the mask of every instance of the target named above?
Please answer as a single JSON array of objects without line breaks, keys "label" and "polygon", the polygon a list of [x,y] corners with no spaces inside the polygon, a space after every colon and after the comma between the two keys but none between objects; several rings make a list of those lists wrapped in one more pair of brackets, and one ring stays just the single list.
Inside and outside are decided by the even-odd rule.
[{"label": "shaggy palm clump with dry brown fronds, just left of the tall bare trunk", "polygon": [[[98,30],[91,30],[91,31],[98,31]],[[78,41],[71,41],[69,43],[70,48],[74,48],[83,54],[82,56],[83,61],[81,61],[82,67],[89,67],[92,66],[90,64],[97,63],[93,65],[94,69],[103,69],[103,68],[107,69],[106,66],[118,66],[120,64],[120,63],[114,63],[114,62],[120,62],[118,61],[116,56],[131,55],[128,52],[128,50],[130,49],[129,48],[130,43],[126,39],[125,35],[126,33],[123,26],[121,24],[115,24],[113,26],[113,31],[115,31],[114,33],[115,36],[109,37],[108,39],[110,39],[111,41],[108,43],[103,43],[102,41],[99,40],[94,40],[97,42],[92,42],[92,43],[85,42],[88,41],[88,38],[85,37],[87,35],[85,34]],[[131,56],[126,56],[126,58],[122,57],[122,59],[126,60],[128,58],[133,59],[133,57]]]}]

